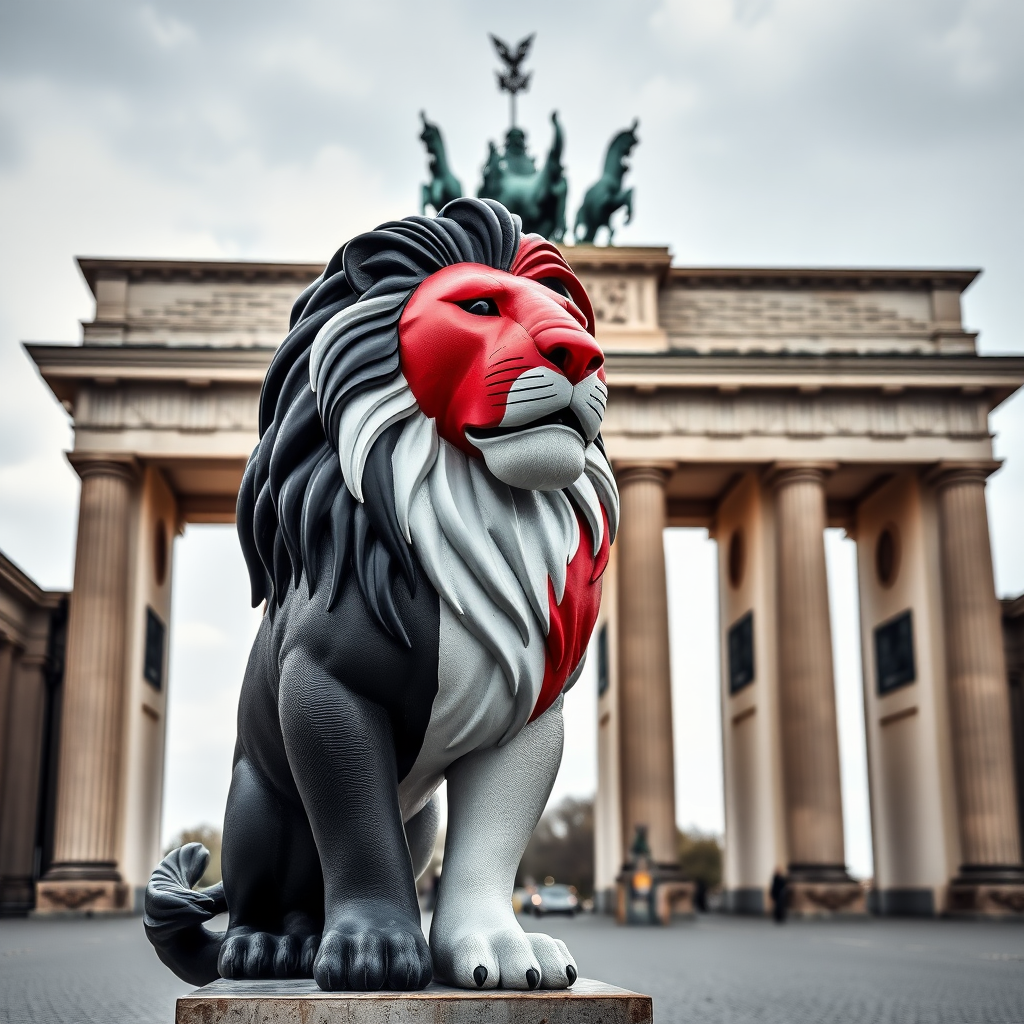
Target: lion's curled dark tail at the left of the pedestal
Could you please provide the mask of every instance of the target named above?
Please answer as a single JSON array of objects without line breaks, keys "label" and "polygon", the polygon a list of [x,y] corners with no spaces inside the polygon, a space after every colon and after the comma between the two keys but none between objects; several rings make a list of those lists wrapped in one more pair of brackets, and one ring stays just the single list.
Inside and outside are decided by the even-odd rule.
[{"label": "lion's curled dark tail at the left of the pedestal", "polygon": [[157,866],[145,889],[145,934],[157,955],[183,981],[207,985],[220,977],[217,955],[222,935],[204,923],[227,909],[224,886],[193,889],[203,877],[210,851],[189,843],[169,853]]}]

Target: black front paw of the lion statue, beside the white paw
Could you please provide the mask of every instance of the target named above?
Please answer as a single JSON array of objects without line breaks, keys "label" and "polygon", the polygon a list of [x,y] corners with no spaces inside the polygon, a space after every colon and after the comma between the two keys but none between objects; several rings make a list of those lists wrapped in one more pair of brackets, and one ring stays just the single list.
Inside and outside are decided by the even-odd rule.
[{"label": "black front paw of the lion statue, beside the white paw", "polygon": [[347,920],[324,932],[313,978],[325,991],[426,988],[430,950],[420,929]]}]

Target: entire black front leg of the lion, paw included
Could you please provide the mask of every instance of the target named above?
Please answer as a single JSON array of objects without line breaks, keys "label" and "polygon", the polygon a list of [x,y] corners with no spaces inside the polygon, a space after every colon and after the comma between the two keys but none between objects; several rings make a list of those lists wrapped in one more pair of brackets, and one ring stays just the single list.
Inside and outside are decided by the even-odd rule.
[{"label": "entire black front leg of the lion, paw included", "polygon": [[324,989],[422,988],[430,952],[398,805],[391,725],[301,651],[282,671],[282,732],[324,869]]}]

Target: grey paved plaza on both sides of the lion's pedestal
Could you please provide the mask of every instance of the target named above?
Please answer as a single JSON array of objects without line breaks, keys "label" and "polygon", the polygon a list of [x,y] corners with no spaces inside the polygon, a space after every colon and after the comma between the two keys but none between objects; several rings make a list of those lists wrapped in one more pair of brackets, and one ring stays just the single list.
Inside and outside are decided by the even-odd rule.
[{"label": "grey paved plaza on both sides of the lion's pedestal", "polygon": [[[656,1024],[1024,1022],[1024,928],[976,922],[790,923],[702,916],[668,929],[526,921],[581,973],[654,997]],[[188,990],[137,918],[0,921],[0,1021],[170,1024]]]}]

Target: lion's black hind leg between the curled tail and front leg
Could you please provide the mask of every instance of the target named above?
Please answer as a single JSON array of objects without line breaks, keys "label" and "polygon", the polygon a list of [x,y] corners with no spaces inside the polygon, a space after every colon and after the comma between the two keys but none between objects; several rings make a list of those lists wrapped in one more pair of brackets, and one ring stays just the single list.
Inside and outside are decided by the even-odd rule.
[{"label": "lion's black hind leg between the curled tail and front leg", "polygon": [[310,977],[319,941],[319,864],[300,806],[282,801],[250,761],[231,773],[221,850],[229,920],[225,978]]}]

